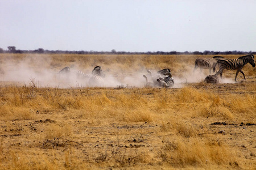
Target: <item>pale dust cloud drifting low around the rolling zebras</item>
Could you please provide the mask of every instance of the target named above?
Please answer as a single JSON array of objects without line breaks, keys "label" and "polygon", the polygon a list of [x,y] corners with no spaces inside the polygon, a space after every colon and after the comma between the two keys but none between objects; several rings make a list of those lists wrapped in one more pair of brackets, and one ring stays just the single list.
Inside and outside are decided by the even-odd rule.
[{"label": "pale dust cloud drifting low around the rolling zebras", "polygon": [[[49,57],[49,60],[51,58]],[[89,78],[81,78],[77,76],[76,71],[79,70],[76,64],[72,64],[70,73],[59,74],[59,71],[64,67],[52,67],[54,69],[47,69],[40,66],[40,63],[45,63],[45,59],[27,58],[23,61],[6,62],[2,63],[3,73],[0,74],[0,82],[14,82],[19,84],[31,84],[35,83],[38,87],[57,87],[57,88],[71,88],[71,87],[137,87],[142,88],[146,84],[146,79],[143,75],[148,75],[147,70],[144,68],[139,72],[123,73],[118,69],[106,69],[102,67],[105,78],[98,78],[94,80],[92,78],[93,67],[84,68],[82,73],[88,75]],[[49,61],[48,61],[49,62]],[[106,66],[105,66],[106,67]],[[193,66],[189,66],[189,71],[171,71],[174,78],[174,88],[181,88],[185,83],[199,83],[203,82],[208,75],[209,70],[193,72]],[[58,69],[56,69],[58,68]],[[106,69],[106,70],[104,70]],[[164,69],[164,68],[162,68]],[[172,69],[171,69],[172,70]],[[152,73],[156,73],[158,70],[151,70]],[[213,74],[213,73],[212,73]],[[221,83],[235,83],[234,80],[224,78]]]}]

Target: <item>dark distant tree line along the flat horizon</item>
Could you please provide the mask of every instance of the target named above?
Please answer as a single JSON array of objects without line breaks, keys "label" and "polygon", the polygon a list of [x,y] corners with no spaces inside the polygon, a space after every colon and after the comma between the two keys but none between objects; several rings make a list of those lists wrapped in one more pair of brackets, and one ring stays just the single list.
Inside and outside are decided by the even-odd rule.
[{"label": "dark distant tree line along the flat horizon", "polygon": [[256,52],[243,52],[243,51],[225,51],[225,52],[216,52],[216,51],[210,51],[210,50],[205,50],[204,52],[176,52],[176,51],[171,51],[171,52],[162,52],[162,51],[157,51],[157,52],[117,52],[116,50],[111,50],[109,52],[97,52],[97,51],[84,51],[84,50],[79,50],[79,51],[69,51],[69,50],[44,50],[43,48],[39,48],[36,50],[17,50],[15,46],[7,46],[8,50],[4,50],[0,48],[0,53],[35,53],[35,54],[152,54],[152,55],[181,55],[181,54],[191,54],[191,55],[227,55],[227,54],[256,54]]}]

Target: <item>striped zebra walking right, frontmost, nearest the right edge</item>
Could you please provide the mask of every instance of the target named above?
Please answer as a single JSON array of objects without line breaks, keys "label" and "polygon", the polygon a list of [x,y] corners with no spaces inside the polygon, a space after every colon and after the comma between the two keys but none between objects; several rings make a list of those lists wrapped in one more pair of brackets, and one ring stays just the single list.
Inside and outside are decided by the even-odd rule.
[{"label": "striped zebra walking right, frontmost, nearest the right edge", "polygon": [[239,72],[242,73],[243,79],[245,79],[245,74],[243,73],[242,68],[247,63],[250,63],[251,66],[255,67],[253,54],[249,54],[247,56],[242,56],[242,57],[235,58],[235,59],[229,59],[229,58],[219,59],[218,66],[220,67],[220,70],[218,70],[216,75],[220,74],[220,77],[222,78],[222,72],[224,69],[237,70],[236,77],[234,80],[237,82],[237,75]]}]

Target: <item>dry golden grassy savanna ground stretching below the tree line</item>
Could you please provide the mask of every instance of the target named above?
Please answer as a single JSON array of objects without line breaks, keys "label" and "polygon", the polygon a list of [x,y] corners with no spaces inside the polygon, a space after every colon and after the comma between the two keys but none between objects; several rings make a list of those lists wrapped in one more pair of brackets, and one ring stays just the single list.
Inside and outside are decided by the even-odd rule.
[{"label": "dry golden grassy savanna ground stretching below the tree line", "polygon": [[[256,169],[255,68],[205,84],[197,57],[0,54],[0,169]],[[97,65],[138,87],[40,85],[46,70]],[[136,83],[164,68],[175,88]]]}]

